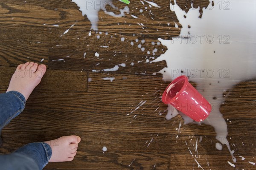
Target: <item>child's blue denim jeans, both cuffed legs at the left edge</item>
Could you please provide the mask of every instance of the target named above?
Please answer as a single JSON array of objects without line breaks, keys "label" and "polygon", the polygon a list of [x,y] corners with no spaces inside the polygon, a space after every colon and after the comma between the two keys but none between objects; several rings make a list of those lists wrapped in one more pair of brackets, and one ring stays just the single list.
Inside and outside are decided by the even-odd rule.
[{"label": "child's blue denim jeans, both cuffed legs at the left edge", "polygon": [[[17,91],[0,94],[0,131],[25,108],[26,99]],[[41,170],[52,149],[44,142],[29,143],[13,153],[0,155],[0,170]]]}]

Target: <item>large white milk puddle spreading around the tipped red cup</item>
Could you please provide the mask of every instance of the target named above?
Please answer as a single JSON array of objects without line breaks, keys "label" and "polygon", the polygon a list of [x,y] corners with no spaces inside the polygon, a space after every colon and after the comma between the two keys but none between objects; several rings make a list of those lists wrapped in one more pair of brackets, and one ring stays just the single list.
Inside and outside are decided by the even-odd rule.
[{"label": "large white milk puddle spreading around the tipped red cup", "polygon": [[[214,4],[209,1],[199,18],[200,7],[193,8],[192,4],[186,13],[176,0],[174,5],[170,3],[171,11],[182,25],[180,36],[172,40],[159,38],[168,50],[153,62],[166,61],[167,67],[159,71],[165,81],[186,75],[197,83],[197,90],[213,106],[209,117],[201,123],[214,127],[216,139],[227,145],[236,162],[234,150],[227,141],[227,124],[219,108],[224,102],[224,91],[256,76],[256,1],[214,1]],[[177,114],[170,105],[168,110],[168,118]],[[193,122],[185,115],[183,119],[185,123]]]}]

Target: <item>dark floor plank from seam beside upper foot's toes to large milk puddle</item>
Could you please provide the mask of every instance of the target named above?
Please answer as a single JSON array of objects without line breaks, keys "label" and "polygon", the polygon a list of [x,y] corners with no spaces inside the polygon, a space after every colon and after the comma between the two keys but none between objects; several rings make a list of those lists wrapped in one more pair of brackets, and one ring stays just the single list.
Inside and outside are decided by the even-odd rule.
[{"label": "dark floor plank from seam beside upper foot's toes to large milk puddle", "polygon": [[[96,42],[95,42],[96,43]],[[119,43],[120,46],[122,44]],[[131,46],[131,45],[130,45]],[[135,48],[135,47],[134,47]],[[136,47],[137,48],[137,47]],[[118,49],[118,48],[116,48]],[[115,65],[124,63],[126,66],[120,66],[116,73],[124,74],[152,74],[160,71],[166,66],[166,62],[153,62],[146,63],[146,59],[149,56],[144,56],[139,48],[137,49],[124,49],[119,48],[120,51],[112,51],[111,49],[106,51],[106,48],[94,48],[90,46],[84,49],[63,49],[63,48],[50,48],[49,49],[49,68],[61,69],[61,70],[87,70],[92,72],[93,70],[102,71],[103,69],[113,68]],[[136,51],[137,50],[137,51]],[[99,57],[95,56],[95,53],[99,53]],[[121,52],[121,53],[119,53]],[[84,57],[84,53],[86,56]],[[56,61],[65,56],[66,62]],[[133,64],[131,64],[133,63]]]}]

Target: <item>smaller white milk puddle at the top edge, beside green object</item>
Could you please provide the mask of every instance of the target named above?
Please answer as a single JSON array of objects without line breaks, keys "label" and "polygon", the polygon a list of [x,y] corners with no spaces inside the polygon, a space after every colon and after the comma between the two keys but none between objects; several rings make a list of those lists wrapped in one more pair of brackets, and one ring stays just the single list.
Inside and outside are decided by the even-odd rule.
[{"label": "smaller white milk puddle at the top edge, beside green object", "polygon": [[[112,0],[72,0],[74,3],[79,6],[80,11],[82,12],[82,15],[86,15],[88,20],[90,20],[91,23],[91,29],[92,30],[98,30],[98,13],[100,10],[103,10],[105,14],[111,15],[113,17],[124,17],[125,12],[129,13],[128,6],[125,6],[123,9],[119,9],[120,14],[114,14],[111,11],[106,10],[106,6],[109,5],[114,9],[118,9],[116,6],[113,5]],[[89,33],[89,36],[91,33]]]}]

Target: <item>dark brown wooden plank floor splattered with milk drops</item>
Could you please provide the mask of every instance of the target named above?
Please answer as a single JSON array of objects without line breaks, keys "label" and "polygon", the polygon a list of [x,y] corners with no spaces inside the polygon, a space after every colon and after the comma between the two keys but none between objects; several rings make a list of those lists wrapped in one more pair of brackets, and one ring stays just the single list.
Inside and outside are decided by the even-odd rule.
[{"label": "dark brown wooden plank floor splattered with milk drops", "polygon": [[[228,139],[238,160],[236,168],[227,163],[232,160],[227,147],[221,151],[215,148],[218,141],[212,127],[183,125],[180,116],[165,119],[167,107],[159,97],[169,82],[152,73],[160,71],[166,63],[145,63],[146,51],[158,48],[156,57],[163,54],[166,47],[151,42],[157,42],[158,37],[170,39],[180,32],[175,28],[173,21],[178,23],[178,20],[169,9],[169,2],[155,2],[161,8],[151,8],[154,15],[143,16],[139,9],[144,6],[135,0],[129,5],[131,13],[122,18],[100,11],[98,25],[102,34],[92,31],[88,36],[90,22],[70,0],[0,0],[0,92],[6,91],[20,63],[44,59],[42,63],[48,67],[41,84],[29,97],[26,109],[3,129],[0,153],[11,153],[29,142],[76,134],[81,136],[81,143],[75,159],[49,163],[46,170],[192,170],[201,168],[188,147],[195,155],[195,143],[202,137],[196,160],[204,170],[255,170],[248,163],[256,162],[255,81],[241,82],[230,89],[220,108],[224,119],[229,119]],[[117,0],[113,3],[119,8],[125,6]],[[190,1],[178,3],[185,8]],[[207,1],[197,0],[196,6],[207,6]],[[143,18],[141,22],[147,29],[142,29],[131,14]],[[152,16],[154,20],[149,20]],[[49,26],[53,24],[59,27]],[[138,43],[131,46],[130,42],[136,38],[145,40],[144,52],[137,48]],[[99,58],[94,56],[96,52]],[[65,62],[53,61],[57,59]],[[121,63],[126,67],[115,72],[92,72]],[[116,79],[110,82],[102,80],[104,77]],[[88,78],[92,81],[88,82]],[[142,100],[146,100],[145,105],[126,116]],[[163,113],[161,116],[159,111]],[[180,122],[181,133],[178,133]],[[103,146],[108,148],[105,153]]]}]

